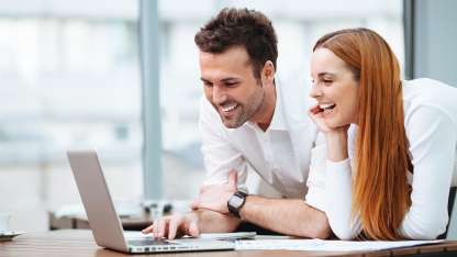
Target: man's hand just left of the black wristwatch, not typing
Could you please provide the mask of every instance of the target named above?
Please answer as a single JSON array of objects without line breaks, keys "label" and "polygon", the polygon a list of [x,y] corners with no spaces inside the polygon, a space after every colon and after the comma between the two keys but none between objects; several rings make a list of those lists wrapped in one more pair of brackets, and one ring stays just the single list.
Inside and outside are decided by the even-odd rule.
[{"label": "man's hand just left of the black wristwatch, not typing", "polygon": [[228,213],[227,201],[237,190],[237,172],[228,174],[228,182],[225,185],[203,186],[200,194],[192,203],[192,209],[208,209],[220,213]]}]

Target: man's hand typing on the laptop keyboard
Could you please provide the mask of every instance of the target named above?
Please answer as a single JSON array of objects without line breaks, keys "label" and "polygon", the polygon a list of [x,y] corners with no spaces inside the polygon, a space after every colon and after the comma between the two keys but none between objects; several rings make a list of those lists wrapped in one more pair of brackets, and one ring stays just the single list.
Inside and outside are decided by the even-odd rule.
[{"label": "man's hand typing on the laptop keyboard", "polygon": [[155,220],[153,225],[144,228],[143,234],[152,233],[157,238],[174,239],[175,237],[181,237],[190,235],[197,237],[200,235],[199,219],[193,213],[186,215],[175,214]]}]

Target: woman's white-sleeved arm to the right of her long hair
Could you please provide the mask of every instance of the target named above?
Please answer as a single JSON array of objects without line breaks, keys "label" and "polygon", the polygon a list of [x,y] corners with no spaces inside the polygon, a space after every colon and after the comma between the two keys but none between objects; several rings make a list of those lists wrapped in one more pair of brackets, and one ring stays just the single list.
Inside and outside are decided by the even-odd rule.
[{"label": "woman's white-sleeved arm to the right of her long hair", "polygon": [[442,110],[420,107],[405,116],[412,154],[411,208],[400,234],[411,239],[433,239],[448,222],[447,201],[456,156],[456,124]]}]

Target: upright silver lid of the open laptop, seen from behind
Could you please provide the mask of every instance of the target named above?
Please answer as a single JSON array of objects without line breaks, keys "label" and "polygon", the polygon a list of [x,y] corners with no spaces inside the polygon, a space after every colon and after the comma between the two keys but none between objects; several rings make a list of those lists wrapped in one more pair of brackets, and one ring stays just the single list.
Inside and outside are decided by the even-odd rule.
[{"label": "upright silver lid of the open laptop, seen from behind", "polygon": [[68,152],[82,204],[98,245],[127,252],[121,221],[115,212],[94,150]]}]

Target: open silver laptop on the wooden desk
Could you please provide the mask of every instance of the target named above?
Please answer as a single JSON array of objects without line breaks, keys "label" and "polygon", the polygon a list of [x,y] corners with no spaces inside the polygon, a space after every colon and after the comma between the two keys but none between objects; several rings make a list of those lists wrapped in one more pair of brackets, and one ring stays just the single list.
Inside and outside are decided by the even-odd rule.
[{"label": "open silver laptop on the wooden desk", "polygon": [[[97,153],[94,150],[68,152],[68,159],[89,225],[99,246],[132,254],[234,249],[234,243],[231,241],[203,238],[167,241],[154,239],[152,236],[126,237],[114,210]],[[125,187],[127,186],[126,183]]]}]

